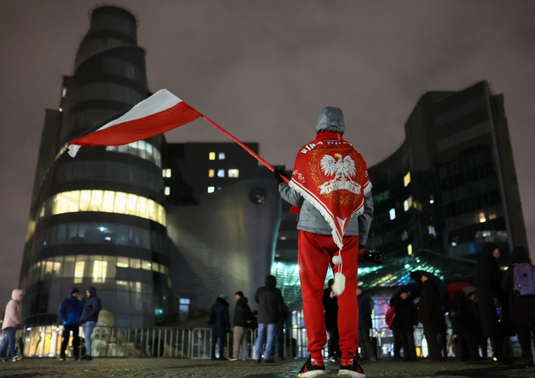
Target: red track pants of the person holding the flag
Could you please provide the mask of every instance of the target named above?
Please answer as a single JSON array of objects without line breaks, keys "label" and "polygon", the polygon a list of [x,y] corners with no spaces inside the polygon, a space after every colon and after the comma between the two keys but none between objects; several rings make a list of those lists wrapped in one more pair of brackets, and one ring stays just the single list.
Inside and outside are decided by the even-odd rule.
[{"label": "red track pants of the person holding the flag", "polygon": [[[359,307],[357,305],[357,265],[359,237],[344,237],[342,249],[342,274],[345,275],[345,290],[338,297],[338,332],[342,358],[352,358],[357,351]],[[323,288],[331,259],[338,247],[332,235],[319,235],[299,231],[298,241],[299,278],[308,352],[312,358],[322,358],[323,346],[327,343],[325,315],[323,311]],[[335,265],[335,272],[338,267]]]}]

